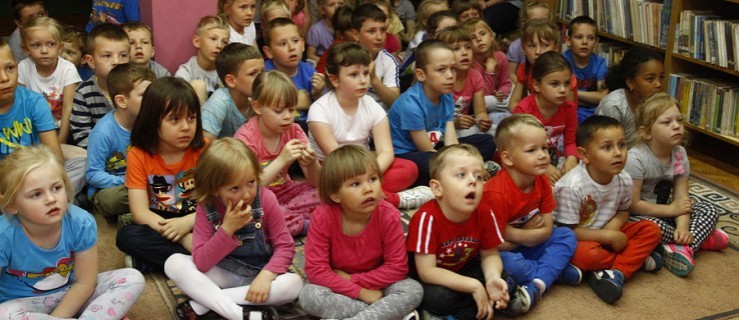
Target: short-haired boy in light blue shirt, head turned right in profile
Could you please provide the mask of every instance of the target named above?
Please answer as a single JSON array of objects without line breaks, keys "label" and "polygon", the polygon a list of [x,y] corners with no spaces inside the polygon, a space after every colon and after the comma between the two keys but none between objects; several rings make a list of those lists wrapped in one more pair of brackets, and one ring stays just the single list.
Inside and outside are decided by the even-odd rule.
[{"label": "short-haired boy in light blue shirt, head turned right in profile", "polygon": [[229,43],[216,56],[216,71],[223,88],[203,104],[203,136],[213,141],[233,137],[253,114],[252,83],[264,69],[264,59],[256,47],[241,42]]}]

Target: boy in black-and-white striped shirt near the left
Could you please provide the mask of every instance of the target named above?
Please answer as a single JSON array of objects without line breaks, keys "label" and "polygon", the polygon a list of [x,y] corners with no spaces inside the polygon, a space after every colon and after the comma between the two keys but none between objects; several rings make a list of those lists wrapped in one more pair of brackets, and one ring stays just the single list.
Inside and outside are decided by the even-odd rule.
[{"label": "boy in black-and-white striped shirt near the left", "polygon": [[108,99],[108,73],[116,65],[128,63],[129,48],[126,32],[114,24],[103,23],[87,35],[85,61],[95,75],[80,83],[74,92],[69,119],[72,144],[87,148],[92,127],[113,110]]}]

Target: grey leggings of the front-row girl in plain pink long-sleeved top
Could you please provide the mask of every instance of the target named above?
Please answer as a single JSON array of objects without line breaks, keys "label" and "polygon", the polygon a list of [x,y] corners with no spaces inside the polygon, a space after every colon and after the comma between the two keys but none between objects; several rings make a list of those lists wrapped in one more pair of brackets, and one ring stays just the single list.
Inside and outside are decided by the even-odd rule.
[{"label": "grey leggings of the front-row girl in plain pink long-sleeved top", "polygon": [[331,289],[308,284],[300,291],[300,306],[314,316],[333,319],[402,319],[423,298],[421,284],[405,279],[382,290],[384,297],[368,305],[334,293]]}]

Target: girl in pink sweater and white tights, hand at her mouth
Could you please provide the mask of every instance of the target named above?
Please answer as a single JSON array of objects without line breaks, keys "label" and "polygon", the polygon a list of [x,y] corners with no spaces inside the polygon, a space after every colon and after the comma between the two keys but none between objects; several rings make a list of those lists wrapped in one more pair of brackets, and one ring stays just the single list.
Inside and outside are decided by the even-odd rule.
[{"label": "girl in pink sweater and white tights, hand at her mouth", "polygon": [[[213,310],[227,319],[270,319],[271,309],[297,298],[303,281],[287,273],[293,239],[275,195],[259,187],[261,167],[243,142],[216,140],[195,169],[198,202],[192,256],[174,254],[164,272],[192,300],[175,309],[178,319]],[[270,312],[269,315],[260,313]]]}]

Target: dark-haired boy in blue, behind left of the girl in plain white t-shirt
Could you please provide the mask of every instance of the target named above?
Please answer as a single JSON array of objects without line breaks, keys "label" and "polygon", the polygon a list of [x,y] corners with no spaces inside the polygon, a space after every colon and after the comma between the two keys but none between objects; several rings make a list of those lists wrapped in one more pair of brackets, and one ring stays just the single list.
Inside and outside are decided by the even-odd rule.
[{"label": "dark-haired boy in blue, behind left of the girl in plain white t-shirt", "polygon": [[298,89],[298,105],[295,122],[308,132],[308,108],[323,94],[324,76],[308,63],[300,61],[305,51],[305,41],[298,26],[288,18],[277,18],[264,26],[264,54],[269,58],[264,71],[277,70],[290,77]]}]

